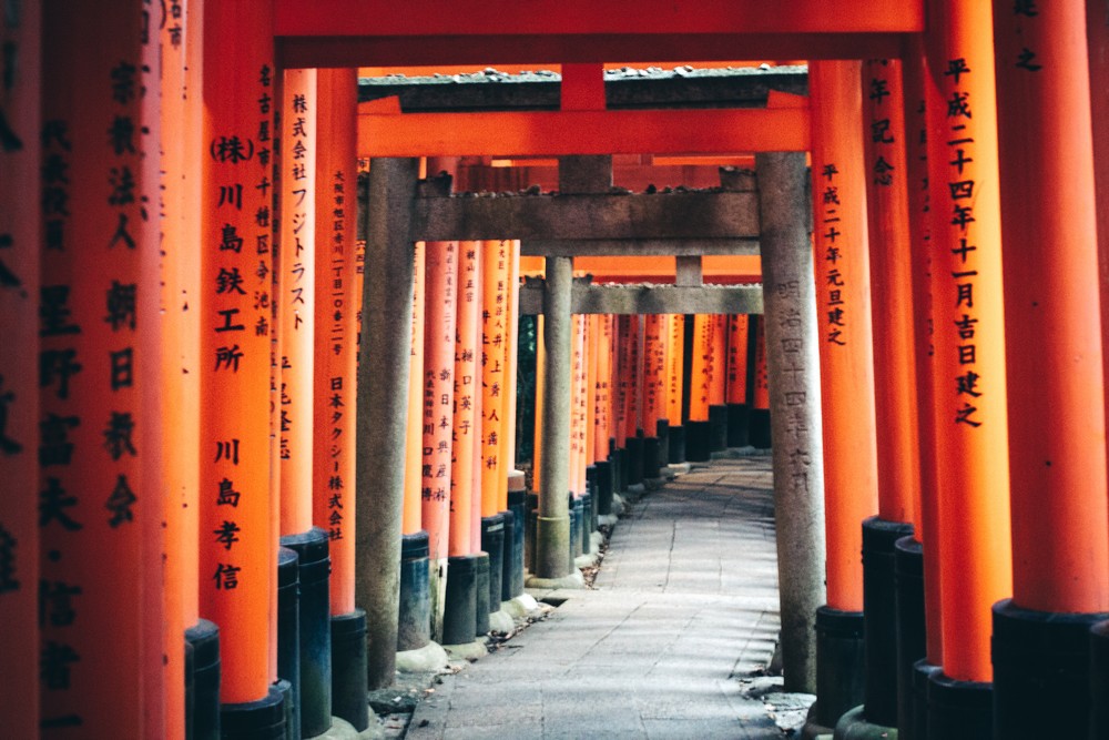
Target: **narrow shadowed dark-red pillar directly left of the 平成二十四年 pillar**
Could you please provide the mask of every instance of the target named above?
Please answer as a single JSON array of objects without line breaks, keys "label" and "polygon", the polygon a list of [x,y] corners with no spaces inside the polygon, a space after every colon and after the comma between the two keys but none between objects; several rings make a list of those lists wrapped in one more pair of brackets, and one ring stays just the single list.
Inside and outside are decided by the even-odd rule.
[{"label": "narrow shadowed dark-red pillar directly left of the \u5e73\u6210\u4e8c\u5341\u56db\u5e74 pillar", "polygon": [[[906,180],[909,194],[909,253],[913,270],[913,335],[915,355],[915,381],[917,394],[917,439],[920,460],[919,514],[914,520],[914,536],[919,544],[902,551],[899,564],[907,564],[905,556],[923,560],[924,587],[924,640],[915,650],[903,651],[898,660],[912,666],[916,673],[929,673],[943,665],[943,629],[940,627],[940,557],[937,537],[939,520],[939,498],[936,484],[936,402],[933,357],[933,300],[932,300],[932,219],[928,195],[928,143],[925,115],[925,67],[924,47],[919,37],[907,45],[902,74],[905,85],[905,135],[906,135]],[[928,105],[938,103],[937,91],[930,92]],[[907,582],[907,581],[906,581]],[[914,665],[916,658],[925,660]],[[904,669],[904,666],[902,667]],[[926,681],[919,681],[926,686]],[[904,716],[901,727],[915,728],[917,734],[925,731],[927,707],[923,698],[905,700],[899,708]]]}]

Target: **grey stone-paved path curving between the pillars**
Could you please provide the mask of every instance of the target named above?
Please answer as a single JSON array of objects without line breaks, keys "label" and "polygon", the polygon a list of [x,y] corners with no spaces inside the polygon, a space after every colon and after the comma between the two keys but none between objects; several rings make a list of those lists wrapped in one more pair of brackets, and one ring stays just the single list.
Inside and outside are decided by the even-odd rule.
[{"label": "grey stone-paved path curving between the pillars", "polygon": [[779,633],[769,456],[698,466],[631,504],[594,589],[447,676],[409,740],[780,738],[812,697],[767,676]]}]

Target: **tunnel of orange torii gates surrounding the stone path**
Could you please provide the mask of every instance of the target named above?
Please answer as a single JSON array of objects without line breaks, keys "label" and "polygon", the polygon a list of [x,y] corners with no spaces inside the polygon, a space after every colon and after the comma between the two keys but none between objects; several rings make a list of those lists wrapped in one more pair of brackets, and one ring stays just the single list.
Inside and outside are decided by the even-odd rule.
[{"label": "tunnel of orange torii gates surrounding the stone path", "polygon": [[3,734],[355,734],[753,443],[808,737],[1109,737],[1109,10],[993,6],[4,3]]}]

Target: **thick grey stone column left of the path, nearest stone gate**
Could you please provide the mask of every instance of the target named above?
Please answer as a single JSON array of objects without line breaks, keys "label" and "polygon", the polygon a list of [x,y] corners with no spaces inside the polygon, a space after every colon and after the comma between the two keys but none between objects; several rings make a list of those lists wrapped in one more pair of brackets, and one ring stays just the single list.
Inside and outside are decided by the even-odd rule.
[{"label": "thick grey stone column left of the path, nearest stone gate", "polygon": [[413,207],[419,161],[369,171],[358,356],[355,601],[366,610],[369,688],[393,683],[400,602],[400,517],[411,342]]}]

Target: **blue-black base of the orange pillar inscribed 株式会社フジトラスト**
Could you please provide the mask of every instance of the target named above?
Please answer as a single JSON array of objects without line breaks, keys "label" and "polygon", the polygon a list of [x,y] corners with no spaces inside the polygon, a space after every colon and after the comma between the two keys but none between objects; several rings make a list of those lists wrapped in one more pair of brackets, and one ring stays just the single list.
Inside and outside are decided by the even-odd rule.
[{"label": "blue-black base of the orange pillar inscribed \u682a\u5f0f\u4f1a\u793e\u30d5\u30b8\u30c8\u30e9\u30b9\u30c8", "polygon": [[327,533],[319,527],[281,538],[299,562],[301,737],[314,738],[332,727],[332,559]]}]

